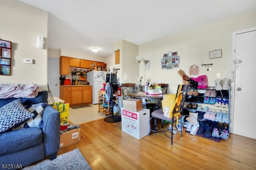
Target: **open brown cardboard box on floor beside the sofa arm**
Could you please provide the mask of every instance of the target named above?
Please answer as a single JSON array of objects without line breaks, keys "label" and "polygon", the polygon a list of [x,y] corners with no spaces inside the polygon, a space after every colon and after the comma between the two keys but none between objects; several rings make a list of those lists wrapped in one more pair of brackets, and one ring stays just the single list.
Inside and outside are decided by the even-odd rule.
[{"label": "open brown cardboard box on floor beside the sofa arm", "polygon": [[60,133],[60,148],[80,141],[80,127],[72,128]]}]

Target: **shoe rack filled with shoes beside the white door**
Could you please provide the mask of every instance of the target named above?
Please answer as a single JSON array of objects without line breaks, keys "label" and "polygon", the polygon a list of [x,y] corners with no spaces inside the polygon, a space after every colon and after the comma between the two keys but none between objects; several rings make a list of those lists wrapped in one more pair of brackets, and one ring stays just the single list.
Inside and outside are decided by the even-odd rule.
[{"label": "shoe rack filled with shoes beside the white door", "polygon": [[[225,134],[230,129],[230,86],[228,90],[216,90],[215,87],[207,89],[192,88],[188,91],[184,109],[186,113],[196,113],[199,121],[214,121],[220,133]],[[225,131],[226,130],[226,131]],[[216,137],[216,136],[213,136]],[[227,140],[227,138],[223,138]]]}]

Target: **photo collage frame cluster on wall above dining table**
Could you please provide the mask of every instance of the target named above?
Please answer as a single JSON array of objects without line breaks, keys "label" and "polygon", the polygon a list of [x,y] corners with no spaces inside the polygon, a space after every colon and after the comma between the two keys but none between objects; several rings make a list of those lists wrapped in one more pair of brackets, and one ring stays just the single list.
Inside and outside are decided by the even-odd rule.
[{"label": "photo collage frame cluster on wall above dining table", "polygon": [[178,51],[165,53],[161,60],[162,69],[178,68],[179,64],[180,56],[178,56]]}]

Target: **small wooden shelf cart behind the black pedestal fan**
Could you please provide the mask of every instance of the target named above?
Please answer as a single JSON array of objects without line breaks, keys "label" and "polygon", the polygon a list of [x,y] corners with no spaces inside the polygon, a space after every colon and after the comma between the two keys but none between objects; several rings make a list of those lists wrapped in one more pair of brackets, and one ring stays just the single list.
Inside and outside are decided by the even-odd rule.
[{"label": "small wooden shelf cart behind the black pedestal fan", "polygon": [[106,116],[112,114],[113,108],[117,102],[117,91],[113,94],[114,105],[111,105],[110,101],[106,101],[105,91],[99,91],[99,103],[98,103],[98,112],[106,114]]}]

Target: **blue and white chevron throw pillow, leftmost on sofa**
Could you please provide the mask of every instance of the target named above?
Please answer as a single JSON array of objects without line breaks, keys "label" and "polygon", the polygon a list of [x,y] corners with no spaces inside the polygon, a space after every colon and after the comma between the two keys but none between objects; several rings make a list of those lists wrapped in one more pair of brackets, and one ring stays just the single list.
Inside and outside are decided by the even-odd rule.
[{"label": "blue and white chevron throw pillow, leftmost on sofa", "polygon": [[14,100],[0,108],[0,133],[30,119],[34,113],[28,111],[20,99]]}]

